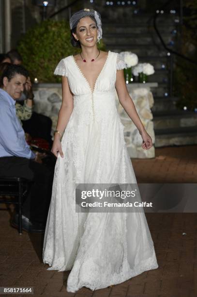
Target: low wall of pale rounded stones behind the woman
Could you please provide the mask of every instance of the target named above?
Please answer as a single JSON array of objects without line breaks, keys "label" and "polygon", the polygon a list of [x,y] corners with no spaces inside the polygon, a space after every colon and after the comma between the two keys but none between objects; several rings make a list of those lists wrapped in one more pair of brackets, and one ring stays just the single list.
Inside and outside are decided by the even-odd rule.
[{"label": "low wall of pale rounded stones behind the woman", "polygon": [[[155,142],[152,112],[153,105],[152,92],[150,86],[152,83],[138,84],[133,83],[127,85],[129,94],[134,101],[137,113],[147,130],[152,137],[152,142]],[[58,113],[61,107],[61,84],[58,83],[42,83],[33,86],[34,92],[34,111],[43,115],[47,115],[52,119],[52,135],[56,129]],[[142,138],[135,124],[128,117],[122,108],[118,96],[116,94],[117,109],[121,117],[121,122],[124,125],[124,137],[127,144],[128,152],[131,158],[154,158],[154,146],[151,149],[145,150],[141,147]]]}]

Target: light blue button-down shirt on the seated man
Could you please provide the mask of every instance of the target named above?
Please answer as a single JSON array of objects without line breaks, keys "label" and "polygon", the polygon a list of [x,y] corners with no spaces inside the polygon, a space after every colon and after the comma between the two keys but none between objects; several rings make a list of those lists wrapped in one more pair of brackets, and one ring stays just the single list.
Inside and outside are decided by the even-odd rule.
[{"label": "light blue button-down shirt on the seated man", "polygon": [[15,100],[0,88],[0,157],[34,159],[25,132],[15,113]]}]

